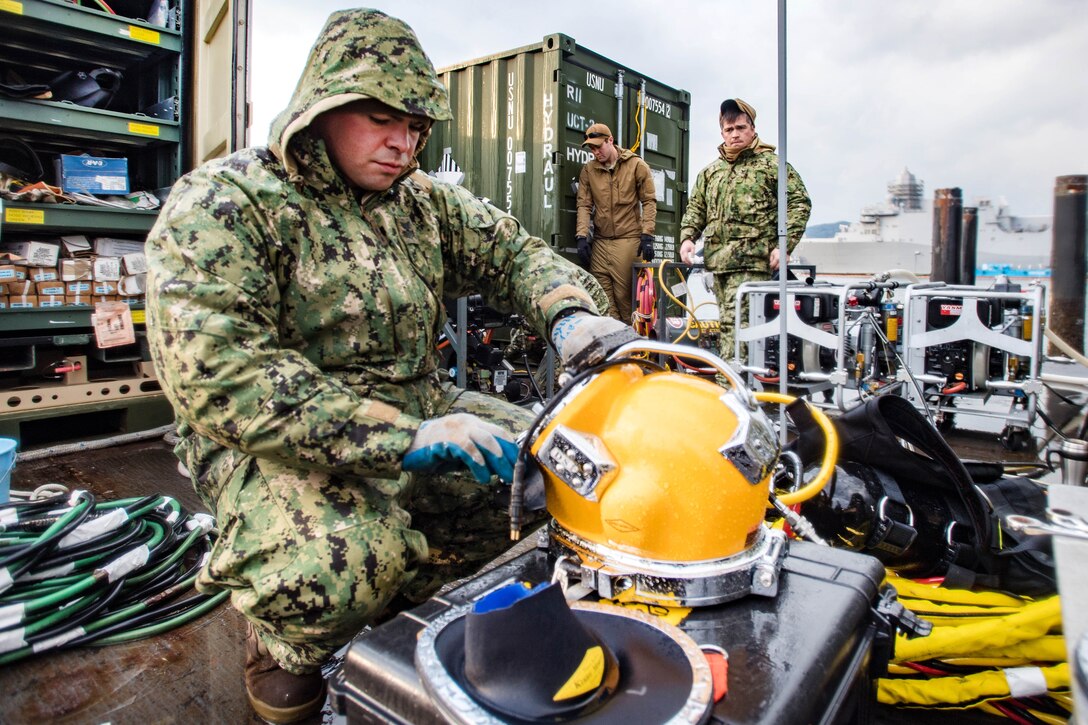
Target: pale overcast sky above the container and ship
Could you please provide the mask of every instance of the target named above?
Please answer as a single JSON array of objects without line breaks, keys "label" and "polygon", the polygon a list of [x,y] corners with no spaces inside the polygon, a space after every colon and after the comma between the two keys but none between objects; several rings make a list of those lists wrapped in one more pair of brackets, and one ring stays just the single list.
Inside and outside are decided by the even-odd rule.
[{"label": "pale overcast sky above the container and ship", "polygon": [[[250,138],[263,144],[333,0],[254,2]],[[724,98],[779,143],[772,0],[397,0],[436,66],[564,33],[692,97],[691,176],[715,158]],[[925,194],[1004,197],[1050,214],[1054,179],[1088,174],[1088,0],[790,0],[788,158],[811,223],[854,220],[908,168]]]}]

